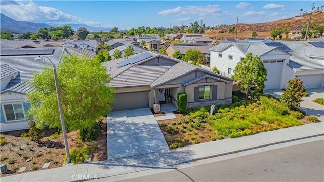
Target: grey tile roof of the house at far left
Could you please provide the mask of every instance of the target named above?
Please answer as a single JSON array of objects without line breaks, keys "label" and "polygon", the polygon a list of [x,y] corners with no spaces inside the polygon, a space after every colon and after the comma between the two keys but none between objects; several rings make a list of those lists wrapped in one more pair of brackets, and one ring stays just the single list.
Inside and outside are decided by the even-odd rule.
[{"label": "grey tile roof of the house at far left", "polygon": [[[37,49],[28,49],[28,51],[33,50],[51,50],[54,49],[52,54],[29,54],[29,55],[0,55],[1,63],[8,64],[15,69],[19,70],[16,78],[12,79],[0,93],[4,92],[18,92],[18,93],[27,93],[32,90],[32,88],[28,85],[27,80],[32,79],[32,75],[35,72],[41,72],[44,67],[52,66],[51,62],[47,59],[43,60],[35,60],[37,56],[46,56],[51,59],[54,64],[58,64],[61,61],[62,55],[65,51],[64,47],[58,48],[37,48]],[[2,51],[10,51],[17,49],[2,49]],[[26,50],[26,49],[21,49]],[[3,72],[4,67],[0,67],[1,72]]]}]

